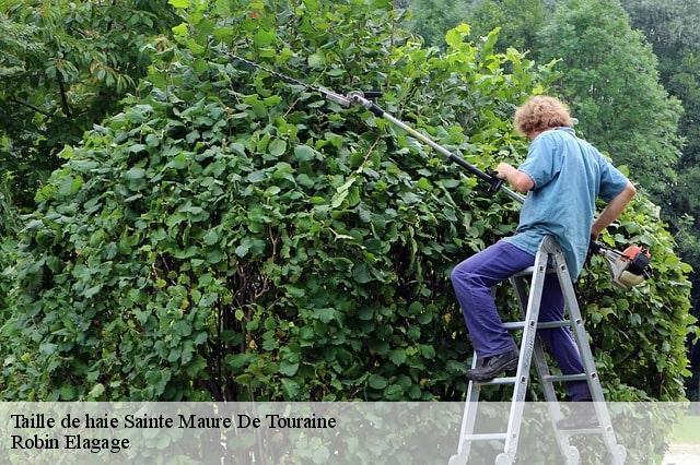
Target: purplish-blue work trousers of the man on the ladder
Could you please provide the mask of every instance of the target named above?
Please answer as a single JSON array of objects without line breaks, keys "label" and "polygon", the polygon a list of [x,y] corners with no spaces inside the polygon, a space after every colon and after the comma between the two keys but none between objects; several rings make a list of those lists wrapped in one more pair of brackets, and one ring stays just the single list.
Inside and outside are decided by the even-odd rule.
[{"label": "purplish-blue work trousers of the man on the ladder", "polygon": [[[499,241],[459,263],[452,272],[464,321],[479,358],[502,354],[516,347],[491,296],[491,287],[532,266],[535,257],[517,247]],[[563,320],[564,300],[557,275],[545,278],[539,321]],[[569,327],[538,330],[537,334],[553,355],[563,374],[583,373],[579,348]],[[567,389],[571,401],[591,398],[585,381],[571,381]]]}]

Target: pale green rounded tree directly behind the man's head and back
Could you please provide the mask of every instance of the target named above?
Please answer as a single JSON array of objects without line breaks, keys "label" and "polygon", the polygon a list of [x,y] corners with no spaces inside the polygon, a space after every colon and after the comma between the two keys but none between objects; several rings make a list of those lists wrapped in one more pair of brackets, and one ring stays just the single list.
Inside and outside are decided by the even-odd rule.
[{"label": "pale green rounded tree directly behind the man's head and back", "polygon": [[578,129],[663,199],[676,181],[681,106],[660,84],[651,47],[631,29],[620,4],[561,3],[540,34],[537,55],[561,58],[556,88],[580,120]]}]

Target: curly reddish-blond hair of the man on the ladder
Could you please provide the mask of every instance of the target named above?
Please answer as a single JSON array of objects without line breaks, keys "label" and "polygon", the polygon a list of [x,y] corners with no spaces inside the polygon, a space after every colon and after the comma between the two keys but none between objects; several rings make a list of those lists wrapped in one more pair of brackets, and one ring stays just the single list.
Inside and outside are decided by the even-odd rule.
[{"label": "curly reddish-blond hair of the man on the ladder", "polygon": [[569,108],[555,97],[537,95],[530,97],[515,110],[515,129],[525,135],[561,126],[573,126]]}]

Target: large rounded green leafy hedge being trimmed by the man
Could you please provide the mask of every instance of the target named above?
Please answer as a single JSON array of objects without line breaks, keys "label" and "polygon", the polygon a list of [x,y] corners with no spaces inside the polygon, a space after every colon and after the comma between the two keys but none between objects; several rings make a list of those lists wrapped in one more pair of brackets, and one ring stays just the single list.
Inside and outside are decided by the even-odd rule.
[{"label": "large rounded green leafy hedge being trimmed by the man", "polygon": [[[466,25],[425,49],[388,2],[244,3],[182,10],[126,110],[67,146],[36,193],[4,272],[2,398],[463,398],[471,349],[450,271],[511,234],[517,205],[371,112],[225,51],[382,90],[483,169],[523,159],[510,119],[551,65],[494,53],[497,32],[468,41]],[[657,213],[640,195],[604,236],[651,247],[649,284],[612,289],[599,261],[580,283],[610,400],[682,397],[689,270]],[[513,312],[505,289],[499,302]]]}]

